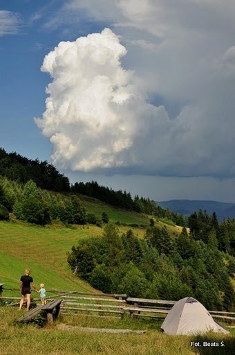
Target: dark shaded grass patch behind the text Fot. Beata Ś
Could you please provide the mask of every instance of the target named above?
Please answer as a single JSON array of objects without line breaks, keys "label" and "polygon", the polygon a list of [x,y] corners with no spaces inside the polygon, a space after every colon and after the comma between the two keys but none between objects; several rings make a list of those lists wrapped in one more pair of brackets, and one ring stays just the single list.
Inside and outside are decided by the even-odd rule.
[{"label": "dark shaded grass patch behind the text Fot. Beata \u015a", "polygon": [[235,354],[235,337],[196,336],[191,338],[191,346],[201,355]]}]

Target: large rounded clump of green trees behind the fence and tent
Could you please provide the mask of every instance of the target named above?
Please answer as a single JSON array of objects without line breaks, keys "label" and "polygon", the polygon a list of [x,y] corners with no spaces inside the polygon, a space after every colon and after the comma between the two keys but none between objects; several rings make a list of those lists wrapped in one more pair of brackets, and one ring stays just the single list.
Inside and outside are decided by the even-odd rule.
[{"label": "large rounded clump of green trees behind the fence and tent", "polygon": [[68,253],[77,276],[104,293],[179,300],[195,297],[207,309],[231,311],[235,306],[234,258],[208,243],[194,239],[183,228],[172,239],[166,227],[152,226],[144,239],[132,230],[120,234],[109,223],[102,237],[81,241]]}]

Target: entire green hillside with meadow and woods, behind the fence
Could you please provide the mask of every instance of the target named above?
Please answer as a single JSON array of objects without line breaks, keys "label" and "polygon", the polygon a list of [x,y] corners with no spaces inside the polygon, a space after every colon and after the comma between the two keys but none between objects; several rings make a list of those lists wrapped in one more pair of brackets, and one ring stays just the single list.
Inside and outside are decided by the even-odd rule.
[{"label": "entire green hillside with meadow and woods, behind the fence", "polygon": [[[51,172],[64,181],[50,165],[15,153],[0,159],[4,164],[11,175],[0,176],[0,220],[6,220],[0,223],[0,277],[6,286],[18,288],[19,275],[30,267],[36,284],[47,289],[93,286],[163,300],[191,295],[209,309],[234,309],[234,221],[219,225],[216,214],[203,212],[184,219],[149,198],[133,199],[97,182],[52,191],[34,181],[45,166],[46,185]],[[190,235],[178,227],[185,223]]]}]

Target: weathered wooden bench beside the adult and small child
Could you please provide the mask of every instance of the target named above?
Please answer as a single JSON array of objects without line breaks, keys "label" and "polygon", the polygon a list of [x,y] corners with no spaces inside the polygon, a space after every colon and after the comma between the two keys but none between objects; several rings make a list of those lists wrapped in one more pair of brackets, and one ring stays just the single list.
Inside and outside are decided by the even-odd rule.
[{"label": "weathered wooden bench beside the adult and small child", "polygon": [[55,300],[52,302],[49,302],[48,304],[40,304],[39,306],[31,309],[28,311],[25,315],[22,315],[17,322],[30,322],[32,318],[35,318],[36,315],[38,315],[41,312],[44,312],[46,314],[46,319],[48,323],[53,323],[53,310],[55,309],[55,315],[54,318],[57,318],[59,315],[59,308],[62,300]]}]

